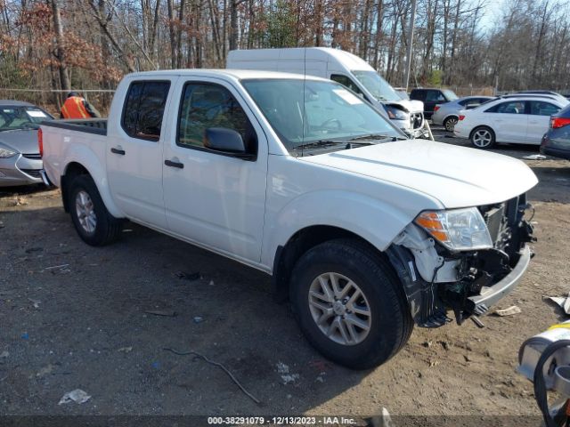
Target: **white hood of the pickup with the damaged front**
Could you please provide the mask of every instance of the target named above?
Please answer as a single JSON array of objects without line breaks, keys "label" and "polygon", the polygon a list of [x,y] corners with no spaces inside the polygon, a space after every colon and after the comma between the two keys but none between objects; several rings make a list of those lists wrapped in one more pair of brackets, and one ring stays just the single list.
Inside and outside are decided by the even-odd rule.
[{"label": "white hood of the pickup with the damaged front", "polygon": [[538,182],[515,158],[427,140],[386,142],[301,159],[414,189],[445,208],[503,202]]}]

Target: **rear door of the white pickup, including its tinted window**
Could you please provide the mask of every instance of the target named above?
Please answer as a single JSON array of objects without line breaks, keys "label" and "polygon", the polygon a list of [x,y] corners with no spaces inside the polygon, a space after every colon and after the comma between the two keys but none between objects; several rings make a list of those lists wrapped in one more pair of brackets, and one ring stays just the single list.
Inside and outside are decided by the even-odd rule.
[{"label": "rear door of the white pickup, including its tinted window", "polygon": [[166,229],[162,191],[162,122],[172,79],[134,80],[117,132],[107,144],[110,190],[129,217]]}]

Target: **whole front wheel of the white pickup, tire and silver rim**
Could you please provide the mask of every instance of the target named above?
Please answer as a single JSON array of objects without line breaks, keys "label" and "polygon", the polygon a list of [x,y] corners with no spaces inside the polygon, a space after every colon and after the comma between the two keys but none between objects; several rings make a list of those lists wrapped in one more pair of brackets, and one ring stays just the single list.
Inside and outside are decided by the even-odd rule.
[{"label": "whole front wheel of the white pickup, tire and silver rim", "polygon": [[413,321],[402,284],[381,254],[355,240],[315,246],[297,262],[290,300],[306,338],[326,358],[354,369],[386,362]]}]

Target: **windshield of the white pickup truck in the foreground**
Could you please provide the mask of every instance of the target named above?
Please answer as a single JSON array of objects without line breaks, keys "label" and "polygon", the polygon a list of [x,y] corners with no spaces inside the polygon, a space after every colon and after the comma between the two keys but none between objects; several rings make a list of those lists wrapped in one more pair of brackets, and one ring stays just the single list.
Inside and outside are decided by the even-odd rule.
[{"label": "windshield of the white pickup truck in the foreground", "polygon": [[263,79],[242,84],[289,152],[325,140],[404,138],[376,109],[338,83]]}]

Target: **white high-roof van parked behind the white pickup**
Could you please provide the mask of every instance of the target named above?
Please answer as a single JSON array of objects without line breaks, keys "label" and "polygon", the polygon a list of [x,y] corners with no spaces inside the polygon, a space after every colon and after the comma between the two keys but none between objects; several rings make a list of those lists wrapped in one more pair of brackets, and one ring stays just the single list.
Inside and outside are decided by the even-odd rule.
[{"label": "white high-roof van parked behind the white pickup", "polygon": [[368,62],[352,53],[329,47],[238,50],[228,54],[226,68],[329,78],[361,95],[404,133],[414,138],[427,135],[423,102],[403,100]]}]

